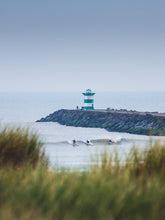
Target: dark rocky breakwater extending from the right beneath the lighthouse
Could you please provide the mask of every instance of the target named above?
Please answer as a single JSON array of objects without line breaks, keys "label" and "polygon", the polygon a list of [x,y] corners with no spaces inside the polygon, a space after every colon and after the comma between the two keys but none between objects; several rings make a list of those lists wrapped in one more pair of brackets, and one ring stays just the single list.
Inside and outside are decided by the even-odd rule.
[{"label": "dark rocky breakwater extending from the right beneath the lighthouse", "polygon": [[59,110],[37,122],[76,127],[105,128],[132,134],[165,135],[165,114],[127,110]]}]

